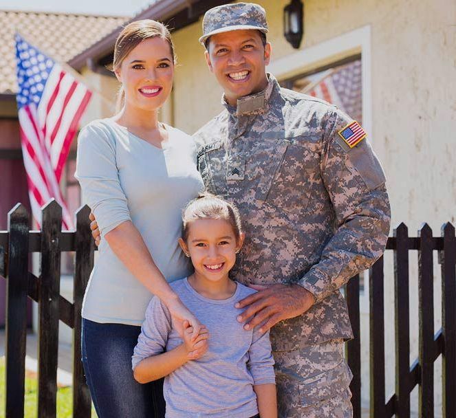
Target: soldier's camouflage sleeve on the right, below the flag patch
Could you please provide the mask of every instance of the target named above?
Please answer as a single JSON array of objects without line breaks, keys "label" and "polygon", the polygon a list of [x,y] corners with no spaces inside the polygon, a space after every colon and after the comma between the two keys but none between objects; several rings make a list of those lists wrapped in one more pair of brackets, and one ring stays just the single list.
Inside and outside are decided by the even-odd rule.
[{"label": "soldier's camouflage sleeve on the right, below the flag patch", "polygon": [[350,148],[338,132],[352,122],[334,110],[327,119],[321,175],[336,215],[336,232],[298,284],[320,302],[384,252],[391,212],[382,166],[364,139]]}]

